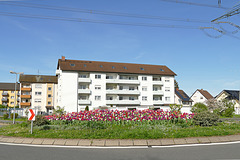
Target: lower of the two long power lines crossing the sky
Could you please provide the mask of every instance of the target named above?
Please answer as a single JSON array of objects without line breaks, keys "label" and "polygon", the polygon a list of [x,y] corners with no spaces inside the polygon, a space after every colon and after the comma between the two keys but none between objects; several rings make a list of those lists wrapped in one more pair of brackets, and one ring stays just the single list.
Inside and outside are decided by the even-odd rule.
[{"label": "lower of the two long power lines crossing the sky", "polygon": [[33,19],[49,19],[49,20],[58,20],[58,21],[116,24],[116,25],[142,26],[142,27],[199,29],[199,27],[194,27],[194,26],[151,24],[151,23],[130,23],[130,22],[105,21],[105,20],[82,19],[82,18],[68,18],[68,17],[56,17],[56,16],[31,15],[31,14],[12,13],[12,12],[0,12],[0,15],[2,15],[2,16],[12,16],[12,17],[33,18]]}]

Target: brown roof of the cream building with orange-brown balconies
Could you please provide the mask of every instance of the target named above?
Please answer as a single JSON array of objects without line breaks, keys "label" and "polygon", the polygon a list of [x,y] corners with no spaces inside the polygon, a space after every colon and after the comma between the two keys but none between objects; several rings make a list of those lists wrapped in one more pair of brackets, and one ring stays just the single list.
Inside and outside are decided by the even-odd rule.
[{"label": "brown roof of the cream building with orange-brown balconies", "polygon": [[58,83],[56,76],[46,75],[20,75],[19,82],[23,83]]}]

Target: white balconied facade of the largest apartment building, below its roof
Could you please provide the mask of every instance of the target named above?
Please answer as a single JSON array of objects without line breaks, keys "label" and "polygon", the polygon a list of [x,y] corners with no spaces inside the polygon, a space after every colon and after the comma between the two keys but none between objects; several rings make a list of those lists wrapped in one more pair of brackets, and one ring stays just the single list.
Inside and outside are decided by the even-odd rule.
[{"label": "white balconied facade of the largest apartment building, below its roof", "polygon": [[105,72],[56,72],[58,105],[67,112],[107,106],[113,109],[162,108],[174,103],[174,76]]}]

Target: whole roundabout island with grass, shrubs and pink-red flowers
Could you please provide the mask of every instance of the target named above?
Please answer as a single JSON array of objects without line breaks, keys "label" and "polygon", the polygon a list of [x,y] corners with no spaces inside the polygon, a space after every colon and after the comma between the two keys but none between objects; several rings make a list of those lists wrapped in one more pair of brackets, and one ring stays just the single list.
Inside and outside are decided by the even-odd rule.
[{"label": "whole roundabout island with grass, shrubs and pink-red flowers", "polygon": [[196,114],[178,111],[95,110],[45,116],[34,121],[0,128],[0,135],[63,139],[159,139],[223,136],[240,133],[239,121],[219,120],[208,111]]}]

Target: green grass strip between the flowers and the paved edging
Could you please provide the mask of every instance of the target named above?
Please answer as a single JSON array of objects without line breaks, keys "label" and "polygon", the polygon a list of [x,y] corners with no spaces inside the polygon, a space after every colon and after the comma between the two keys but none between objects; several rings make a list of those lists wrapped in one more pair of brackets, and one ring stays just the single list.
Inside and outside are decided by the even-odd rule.
[{"label": "green grass strip between the flowers and the paved edging", "polygon": [[64,139],[158,139],[223,136],[240,133],[240,122],[222,122],[217,126],[182,126],[179,124],[126,124],[100,125],[100,127],[84,127],[82,125],[45,125],[34,126],[30,134],[27,123],[4,126],[0,135],[34,138]]}]

